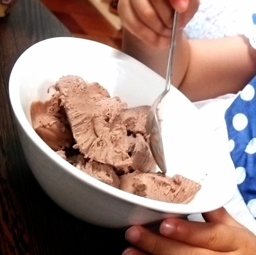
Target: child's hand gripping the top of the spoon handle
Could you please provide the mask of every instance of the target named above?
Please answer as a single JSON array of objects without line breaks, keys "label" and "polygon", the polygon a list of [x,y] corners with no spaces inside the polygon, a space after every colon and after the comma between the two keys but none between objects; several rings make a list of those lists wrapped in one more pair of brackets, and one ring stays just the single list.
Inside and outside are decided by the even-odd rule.
[{"label": "child's hand gripping the top of the spoon handle", "polygon": [[180,13],[177,27],[183,28],[198,6],[199,0],[119,0],[118,14],[130,33],[144,43],[163,48],[170,43],[174,9]]}]

